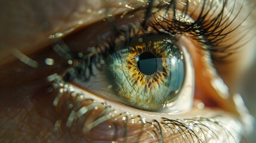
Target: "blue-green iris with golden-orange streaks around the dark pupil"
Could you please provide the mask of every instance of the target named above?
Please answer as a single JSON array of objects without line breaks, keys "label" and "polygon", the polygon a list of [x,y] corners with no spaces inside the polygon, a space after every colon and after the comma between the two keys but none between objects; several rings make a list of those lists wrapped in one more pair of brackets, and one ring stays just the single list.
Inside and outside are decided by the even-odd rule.
[{"label": "blue-green iris with golden-orange streaks around the dark pupil", "polygon": [[185,75],[183,52],[166,35],[134,38],[106,63],[114,94],[125,104],[149,111],[174,101]]}]

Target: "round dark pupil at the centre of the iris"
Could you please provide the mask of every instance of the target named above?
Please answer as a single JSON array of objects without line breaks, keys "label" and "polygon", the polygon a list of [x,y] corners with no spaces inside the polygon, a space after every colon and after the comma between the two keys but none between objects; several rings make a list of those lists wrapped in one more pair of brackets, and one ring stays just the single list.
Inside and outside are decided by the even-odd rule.
[{"label": "round dark pupil at the centre of the iris", "polygon": [[138,57],[138,69],[141,73],[151,75],[157,70],[157,59],[151,52],[143,52]]}]

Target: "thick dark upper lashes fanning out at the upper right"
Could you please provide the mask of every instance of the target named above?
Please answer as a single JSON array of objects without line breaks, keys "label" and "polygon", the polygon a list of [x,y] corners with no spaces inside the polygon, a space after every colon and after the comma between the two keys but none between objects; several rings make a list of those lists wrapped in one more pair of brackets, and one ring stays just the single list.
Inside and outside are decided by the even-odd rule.
[{"label": "thick dark upper lashes fanning out at the upper right", "polygon": [[[204,5],[202,7],[205,7],[206,3],[205,1],[203,2],[204,2]],[[232,46],[235,45],[235,43],[240,42],[245,36],[244,35],[240,36],[239,41],[236,41],[235,43],[232,42],[229,45],[221,45],[221,42],[223,41],[223,39],[228,38],[227,35],[230,35],[230,33],[233,33],[235,32],[236,29],[238,29],[238,27],[243,23],[243,21],[245,21],[246,18],[248,18],[249,14],[252,12],[253,9],[242,21],[240,21],[240,23],[236,27],[234,27],[233,29],[230,28],[228,32],[224,32],[224,30],[227,30],[230,27],[230,25],[235,21],[235,19],[238,17],[238,15],[240,14],[240,11],[243,8],[243,4],[242,4],[238,13],[236,13],[235,17],[230,20],[230,17],[232,16],[235,9],[235,4],[233,4],[233,7],[229,11],[230,13],[228,15],[225,15],[224,13],[224,10],[226,10],[226,5],[227,5],[227,0],[226,1],[224,0],[223,7],[221,8],[220,13],[218,13],[217,16],[215,17],[212,17],[213,14],[210,15],[209,13],[212,10],[211,8],[209,8],[208,11],[201,11],[201,13],[199,14],[199,17],[196,18],[196,21],[193,23],[184,23],[175,19],[172,19],[172,20],[164,19],[165,22],[168,23],[169,27],[162,27],[162,28],[174,34],[190,33],[193,39],[198,40],[198,42],[204,45],[202,49],[206,49],[211,52],[226,52],[227,53],[226,55],[229,56],[230,52],[233,51],[233,49],[237,49],[239,47],[238,46],[237,48],[233,48]],[[187,10],[188,8],[189,8],[189,4],[187,4],[187,7],[185,9]],[[175,8],[173,11],[175,13]],[[183,11],[183,13],[186,15],[187,11]],[[208,16],[209,18],[206,19],[206,17]],[[209,20],[211,21],[209,22]],[[206,24],[206,22],[208,23]],[[152,23],[151,26],[154,27],[155,25],[159,25],[159,23]],[[158,30],[158,29],[155,28],[155,30]],[[201,36],[203,36],[203,39]],[[243,44],[244,43],[241,43],[240,45],[243,45]],[[220,60],[222,58],[226,58],[227,56],[217,57],[218,59],[215,58],[214,60]]]}]

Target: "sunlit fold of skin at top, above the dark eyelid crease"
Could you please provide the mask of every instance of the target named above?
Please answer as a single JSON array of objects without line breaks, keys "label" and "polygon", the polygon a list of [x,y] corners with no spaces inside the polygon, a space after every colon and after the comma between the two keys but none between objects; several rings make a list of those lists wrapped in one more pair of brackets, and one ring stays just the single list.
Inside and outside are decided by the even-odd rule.
[{"label": "sunlit fold of skin at top, above the dark eyelid crease", "polygon": [[[129,11],[132,8],[140,7],[143,2],[124,0],[118,1],[83,1],[82,4],[77,4],[75,10],[67,15],[69,19],[63,19],[63,27],[58,29],[58,32],[64,32],[67,29],[74,27],[88,26],[96,21],[103,20],[108,14],[117,15]],[[94,2],[94,3],[93,3]],[[131,5],[131,6],[129,6]],[[51,16],[51,15],[50,15]],[[53,17],[54,18],[54,17]],[[64,25],[67,25],[65,27]]]}]

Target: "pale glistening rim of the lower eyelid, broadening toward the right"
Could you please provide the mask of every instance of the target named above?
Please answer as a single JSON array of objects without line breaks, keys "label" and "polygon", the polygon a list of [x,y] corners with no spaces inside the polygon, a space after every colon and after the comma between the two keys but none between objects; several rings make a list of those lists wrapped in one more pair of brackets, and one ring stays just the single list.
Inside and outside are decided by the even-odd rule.
[{"label": "pale glistening rim of the lower eyelid, broadening toward the right", "polygon": [[[119,120],[116,118],[115,115],[119,115],[119,116],[121,116],[120,119],[125,123],[128,122],[128,119],[131,119],[131,121],[132,121],[133,119],[135,119],[135,117],[140,117],[140,119],[143,119],[143,120],[140,120],[143,122],[143,124],[144,123],[146,123],[146,124],[152,123],[152,125],[153,125],[155,121],[161,123],[161,125],[159,125],[159,128],[161,128],[162,130],[166,130],[166,132],[161,132],[162,135],[166,135],[166,136],[164,136],[166,139],[172,139],[172,138],[169,138],[170,136],[168,136],[168,135],[172,135],[172,134],[175,134],[174,138],[178,138],[178,136],[180,136],[180,135],[182,136],[182,135],[184,135],[183,133],[186,133],[183,131],[186,131],[187,129],[189,129],[189,132],[191,130],[192,132],[196,132],[196,134],[199,133],[198,134],[199,136],[196,136],[196,137],[199,137],[201,139],[211,138],[212,140],[215,139],[216,141],[223,142],[225,139],[229,138],[229,139],[231,139],[229,141],[236,142],[236,141],[239,141],[240,133],[242,133],[241,123],[236,118],[234,118],[231,114],[226,113],[221,110],[212,110],[210,108],[198,110],[197,108],[193,108],[193,110],[191,110],[189,114],[186,113],[186,114],[181,114],[180,116],[172,116],[170,114],[149,113],[147,111],[141,112],[141,111],[137,111],[136,109],[130,110],[125,105],[117,105],[117,104],[113,104],[113,102],[111,102],[111,101],[104,101],[104,99],[95,97],[95,95],[91,94],[90,92],[84,91],[84,90],[78,88],[77,86],[73,86],[72,93],[74,95],[71,94],[71,96],[72,97],[75,96],[77,92],[81,93],[81,94],[79,94],[79,96],[82,95],[82,97],[79,97],[79,99],[81,99],[82,101],[84,101],[84,100],[87,101],[90,99],[91,101],[95,101],[94,102],[95,104],[101,103],[101,104],[109,107],[110,113],[107,114],[107,116],[108,117],[111,116],[109,119],[109,120],[111,120],[110,122],[112,122],[112,121],[118,122]],[[66,94],[63,94],[61,96],[66,96]],[[67,94],[67,96],[70,96],[70,95]],[[64,108],[69,108],[69,107],[66,107],[67,104],[63,104],[63,105],[65,106]],[[90,104],[90,107],[88,107],[88,108],[91,108],[91,105],[92,104]],[[62,105],[60,104],[60,106],[62,106]],[[88,106],[87,104],[84,104],[84,105],[82,105],[82,108],[74,109],[72,111],[75,111],[75,113],[78,116],[82,115],[82,116],[87,117],[87,116],[90,116],[90,114],[89,115],[87,114],[87,110],[88,110],[87,106]],[[82,111],[84,109],[86,111]],[[95,110],[97,110],[97,115],[102,113],[102,109],[103,108],[101,108],[101,110],[98,110],[98,108],[95,108]],[[76,111],[76,110],[78,110],[78,111]],[[60,113],[62,113],[62,112],[63,111],[60,111]],[[67,114],[69,114],[69,113],[70,112],[68,112]],[[66,120],[66,118],[65,118],[64,121],[65,122],[67,121],[67,123],[72,123],[74,125],[73,127],[76,128],[76,123],[79,122],[79,119],[76,120],[76,118],[74,118],[75,116],[73,116],[73,115],[75,115],[75,114],[70,113],[69,116],[66,116],[66,117],[68,117],[68,119]],[[95,116],[97,117],[97,115],[95,115]],[[129,117],[125,116],[125,115],[128,115]],[[140,116],[138,116],[138,115],[140,115]],[[191,117],[195,117],[195,118],[191,119]],[[102,118],[100,118],[100,119],[102,119]],[[201,119],[204,119],[204,120],[201,120]],[[84,119],[81,119],[81,120],[84,120]],[[85,118],[85,120],[86,120],[86,118]],[[166,123],[166,120],[167,121],[169,120],[170,122],[174,122],[174,124],[170,123],[168,125],[168,123]],[[187,121],[190,121],[190,122],[187,122]],[[65,125],[65,122],[63,125]],[[106,125],[103,123],[104,121],[99,122],[99,120],[97,120],[97,118],[92,119],[90,122],[92,125],[94,123],[97,124],[98,127],[102,128],[102,129],[104,128],[104,125]],[[100,124],[98,124],[98,122]],[[195,122],[195,126],[193,125],[194,122]],[[83,129],[87,127],[84,124],[84,122],[81,122],[81,123],[82,123],[81,126],[83,127]],[[175,124],[175,123],[178,123],[178,124]],[[181,124],[184,123],[184,125],[186,125],[185,126],[186,129],[183,129],[182,128],[183,126],[181,126],[179,123],[181,123]],[[146,125],[146,124],[144,124],[144,125]],[[116,125],[122,127],[122,124],[117,123]],[[141,125],[141,123],[134,122],[134,123],[132,123],[132,125],[137,126],[137,125]],[[168,125],[168,126],[162,126],[162,125]],[[202,126],[200,126],[200,125],[202,125]],[[223,126],[223,125],[227,125],[227,126]],[[81,127],[81,126],[79,126],[79,127]],[[176,128],[172,128],[172,126],[175,126]],[[92,126],[92,127],[94,128],[95,126]],[[137,126],[137,127],[139,127],[139,126]],[[153,126],[152,126],[152,128],[153,128]],[[72,126],[70,129],[72,129]],[[81,128],[79,128],[79,129],[81,129]],[[92,129],[92,128],[90,128],[90,129]],[[169,129],[171,129],[171,130],[169,130]],[[178,130],[181,130],[181,132]],[[218,132],[216,130],[218,130]],[[227,130],[228,130],[228,132],[227,132]],[[85,133],[85,135],[88,135],[88,134],[86,134],[88,132],[88,130],[81,130],[81,132]],[[209,135],[209,136],[206,136],[206,135]],[[225,138],[219,138],[219,136],[222,136],[222,135],[224,135]],[[187,138],[183,138],[183,139],[185,141]],[[206,139],[206,140],[208,140],[208,139]]]}]

